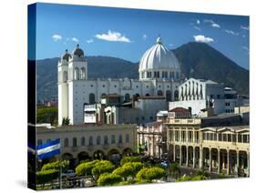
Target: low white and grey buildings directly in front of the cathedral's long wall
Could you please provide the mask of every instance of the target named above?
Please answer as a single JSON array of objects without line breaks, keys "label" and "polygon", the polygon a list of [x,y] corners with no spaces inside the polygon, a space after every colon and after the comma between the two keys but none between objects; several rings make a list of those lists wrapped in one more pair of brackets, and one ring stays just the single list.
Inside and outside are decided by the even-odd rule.
[{"label": "low white and grey buildings directly in front of the cathedral's long wall", "polygon": [[85,105],[84,122],[140,125],[156,121],[159,110],[167,107],[164,96],[138,96],[124,101],[122,96],[106,95],[100,104]]}]

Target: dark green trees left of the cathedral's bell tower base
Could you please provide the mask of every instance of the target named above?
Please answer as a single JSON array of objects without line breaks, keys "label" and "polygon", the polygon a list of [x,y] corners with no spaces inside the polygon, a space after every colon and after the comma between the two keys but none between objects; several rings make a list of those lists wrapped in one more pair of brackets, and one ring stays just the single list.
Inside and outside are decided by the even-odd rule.
[{"label": "dark green trees left of the cathedral's bell tower base", "polygon": [[36,107],[36,123],[50,123],[54,125],[57,122],[57,107]]}]

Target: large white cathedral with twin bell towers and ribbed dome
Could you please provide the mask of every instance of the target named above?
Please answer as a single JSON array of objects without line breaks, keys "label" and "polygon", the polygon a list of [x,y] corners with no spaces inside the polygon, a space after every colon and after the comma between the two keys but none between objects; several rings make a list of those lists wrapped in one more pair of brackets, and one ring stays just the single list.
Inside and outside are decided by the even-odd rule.
[{"label": "large white cathedral with twin bell towers and ribbed dome", "polygon": [[71,125],[84,123],[84,107],[100,103],[102,96],[115,94],[126,101],[133,96],[164,96],[167,101],[179,99],[180,66],[177,57],[160,37],[148,48],[138,66],[138,79],[87,78],[87,58],[77,45],[72,54],[58,61],[58,124],[64,117]]}]

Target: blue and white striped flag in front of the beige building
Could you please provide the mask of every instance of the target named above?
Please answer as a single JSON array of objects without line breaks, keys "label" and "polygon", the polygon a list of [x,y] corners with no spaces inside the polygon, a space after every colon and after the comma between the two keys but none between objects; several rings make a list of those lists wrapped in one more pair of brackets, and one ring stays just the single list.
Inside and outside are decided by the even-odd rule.
[{"label": "blue and white striped flag in front of the beige building", "polygon": [[56,140],[37,146],[36,153],[38,159],[53,157],[60,154],[60,139],[57,138]]}]

